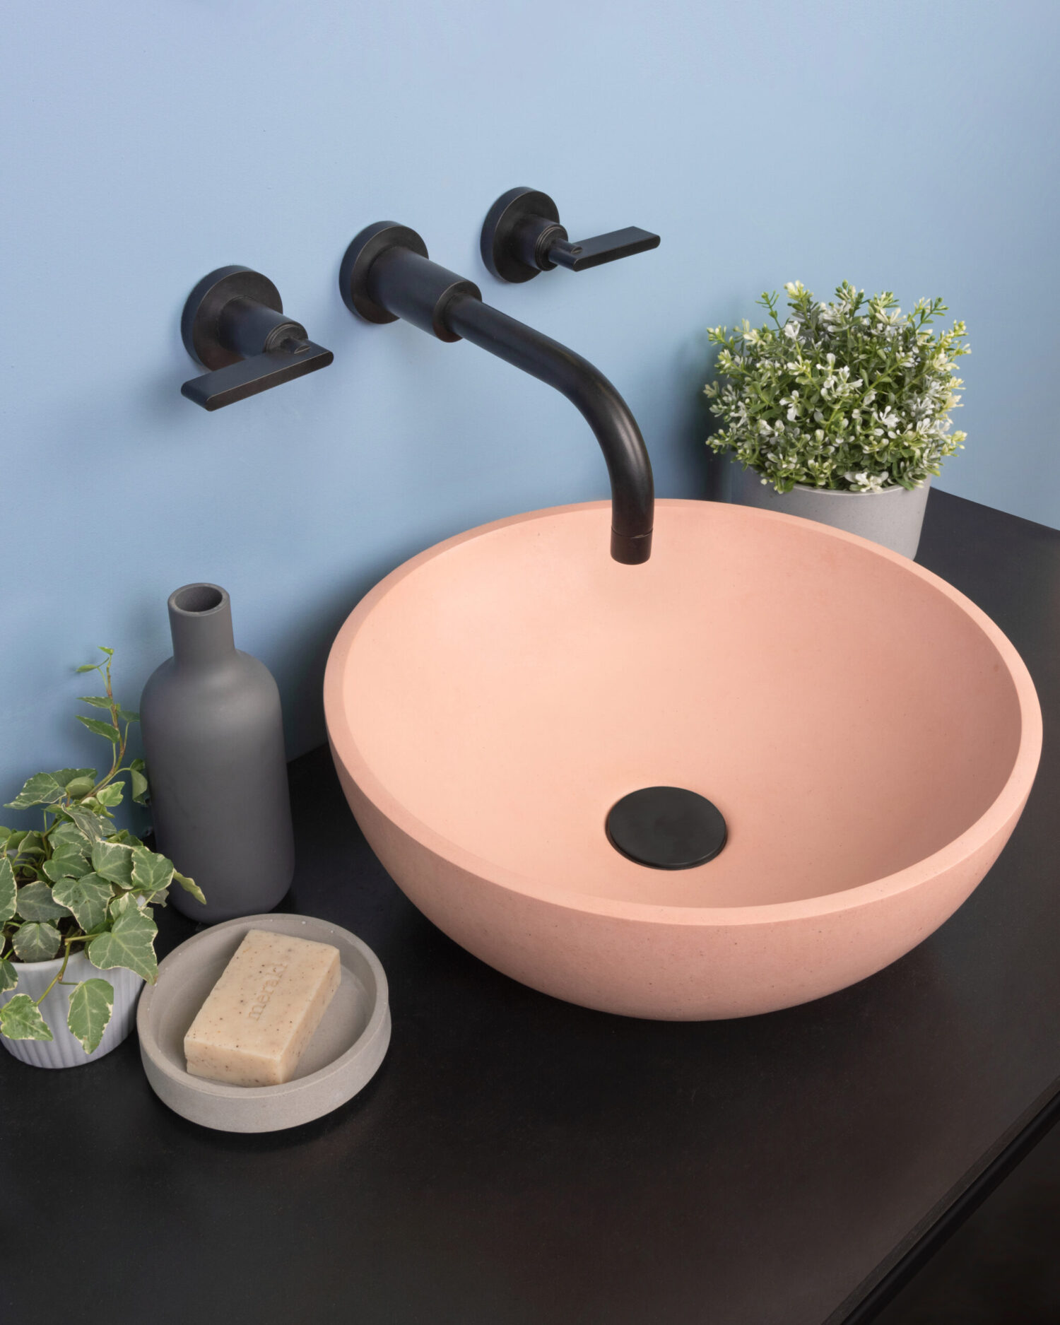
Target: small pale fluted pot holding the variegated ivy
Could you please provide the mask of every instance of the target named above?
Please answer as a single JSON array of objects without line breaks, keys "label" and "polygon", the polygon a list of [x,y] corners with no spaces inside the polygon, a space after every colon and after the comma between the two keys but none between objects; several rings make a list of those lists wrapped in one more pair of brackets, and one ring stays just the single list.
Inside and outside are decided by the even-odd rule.
[{"label": "small pale fluted pot holding the variegated ivy", "polygon": [[[16,994],[28,994],[33,999],[40,998],[54,979],[60,966],[62,966],[62,959],[58,957],[50,962],[16,962],[19,984],[16,988],[0,994],[0,1006]],[[56,984],[41,1003],[41,1014],[54,1039],[9,1040],[5,1035],[0,1035],[0,1044],[21,1063],[29,1063],[34,1068],[77,1068],[83,1063],[95,1063],[111,1049],[117,1049],[132,1030],[136,1020],[136,1000],[143,988],[143,978],[135,971],[127,971],[123,966],[101,971],[82,953],[76,953],[66,963],[66,974],[62,979],[66,983]],[[90,979],[109,980],[114,986],[114,1010],[98,1048],[94,1053],[85,1053],[81,1041],[70,1035],[66,1026],[66,1010],[70,994],[73,994],[70,986]]]}]

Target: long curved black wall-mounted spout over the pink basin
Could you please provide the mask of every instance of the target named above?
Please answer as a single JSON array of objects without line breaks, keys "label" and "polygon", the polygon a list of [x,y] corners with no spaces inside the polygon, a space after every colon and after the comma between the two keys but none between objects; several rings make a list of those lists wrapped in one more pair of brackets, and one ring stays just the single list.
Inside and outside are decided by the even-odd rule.
[{"label": "long curved black wall-mounted spout over the pink basin", "polygon": [[[657,241],[656,241],[657,242]],[[560,391],[596,435],[611,476],[611,555],[637,566],[652,553],[655,488],[629,407],[580,355],[482,302],[478,286],[429,261],[407,225],[363,229],[342,260],[342,298],[368,322],[404,318],[440,341],[470,341]]]}]

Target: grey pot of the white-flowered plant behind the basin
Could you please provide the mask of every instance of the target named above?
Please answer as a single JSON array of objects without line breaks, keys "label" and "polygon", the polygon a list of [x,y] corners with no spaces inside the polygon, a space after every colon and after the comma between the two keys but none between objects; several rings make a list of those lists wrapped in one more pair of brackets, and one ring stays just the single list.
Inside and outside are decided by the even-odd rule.
[{"label": "grey pot of the white-flowered plant behind the basin", "polygon": [[930,478],[920,488],[888,488],[881,493],[829,492],[802,484],[790,493],[778,493],[772,484],[763,484],[754,469],[743,469],[738,460],[729,457],[721,461],[719,480],[722,501],[815,519],[819,525],[871,538],[902,556],[917,555]]}]

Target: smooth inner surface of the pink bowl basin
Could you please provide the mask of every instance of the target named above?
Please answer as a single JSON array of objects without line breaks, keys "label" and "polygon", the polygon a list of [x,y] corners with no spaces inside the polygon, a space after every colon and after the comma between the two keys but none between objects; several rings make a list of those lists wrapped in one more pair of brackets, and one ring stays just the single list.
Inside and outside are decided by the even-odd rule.
[{"label": "smooth inner surface of the pink bowl basin", "polygon": [[[935,576],[738,506],[661,502],[644,566],[607,529],[591,504],[453,539],[341,635],[337,755],[433,849],[603,902],[765,906],[896,874],[999,798],[1026,669]],[[608,810],[652,784],[718,806],[717,859],[613,849]]]}]

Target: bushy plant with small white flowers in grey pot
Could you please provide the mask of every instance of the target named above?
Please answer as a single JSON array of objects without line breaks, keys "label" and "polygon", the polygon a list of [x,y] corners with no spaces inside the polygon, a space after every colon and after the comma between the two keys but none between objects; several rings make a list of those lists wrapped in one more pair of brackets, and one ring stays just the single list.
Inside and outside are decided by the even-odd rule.
[{"label": "bushy plant with small white flowers in grey pot", "polygon": [[708,445],[727,454],[722,496],[802,515],[914,556],[928,485],[961,449],[950,411],[969,352],[965,323],[931,323],[942,299],[902,313],[890,293],[865,298],[847,281],[831,303],[802,282],[758,301],[762,327],[714,327],[721,346],[710,412],[722,427]]}]

